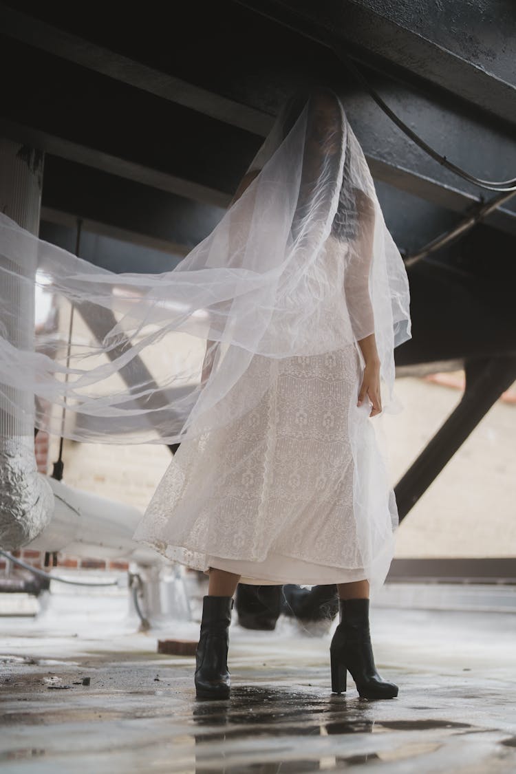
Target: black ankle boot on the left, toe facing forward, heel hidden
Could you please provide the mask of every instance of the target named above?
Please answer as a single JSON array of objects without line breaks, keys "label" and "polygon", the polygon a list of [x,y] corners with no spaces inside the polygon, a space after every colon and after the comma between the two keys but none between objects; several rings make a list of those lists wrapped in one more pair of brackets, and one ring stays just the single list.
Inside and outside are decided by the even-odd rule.
[{"label": "black ankle boot on the left, toe facing forward, heel hidden", "polygon": [[232,608],[232,597],[203,597],[203,619],[196,649],[195,687],[198,699],[229,697],[227,648]]}]

